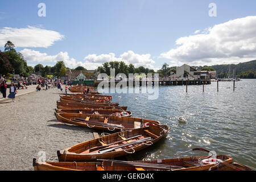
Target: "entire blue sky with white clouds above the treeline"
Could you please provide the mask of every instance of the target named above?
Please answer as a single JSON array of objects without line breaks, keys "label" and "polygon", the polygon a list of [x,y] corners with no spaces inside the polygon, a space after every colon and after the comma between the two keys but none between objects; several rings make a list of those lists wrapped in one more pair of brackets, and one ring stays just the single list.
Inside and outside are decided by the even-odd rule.
[{"label": "entire blue sky with white clouds above the treeline", "polygon": [[[42,2],[46,16],[38,15]],[[10,40],[32,66],[237,64],[256,59],[255,7],[255,0],[3,1],[0,49]]]}]

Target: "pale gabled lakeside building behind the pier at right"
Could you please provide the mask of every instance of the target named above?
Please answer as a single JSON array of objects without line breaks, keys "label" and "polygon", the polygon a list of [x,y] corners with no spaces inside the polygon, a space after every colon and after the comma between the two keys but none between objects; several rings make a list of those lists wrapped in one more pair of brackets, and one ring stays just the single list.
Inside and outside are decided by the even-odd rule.
[{"label": "pale gabled lakeside building behind the pier at right", "polygon": [[183,64],[181,67],[176,68],[176,77],[179,78],[197,78],[197,79],[213,79],[216,78],[216,71],[198,71],[187,64]]}]

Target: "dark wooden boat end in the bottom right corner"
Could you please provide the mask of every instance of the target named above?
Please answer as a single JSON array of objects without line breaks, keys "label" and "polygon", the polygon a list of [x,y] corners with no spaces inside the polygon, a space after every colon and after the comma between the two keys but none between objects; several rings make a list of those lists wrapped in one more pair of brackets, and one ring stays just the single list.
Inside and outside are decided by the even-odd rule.
[{"label": "dark wooden boat end in the bottom right corner", "polygon": [[253,169],[240,163],[225,163],[222,162],[209,169],[210,171],[254,171]]}]

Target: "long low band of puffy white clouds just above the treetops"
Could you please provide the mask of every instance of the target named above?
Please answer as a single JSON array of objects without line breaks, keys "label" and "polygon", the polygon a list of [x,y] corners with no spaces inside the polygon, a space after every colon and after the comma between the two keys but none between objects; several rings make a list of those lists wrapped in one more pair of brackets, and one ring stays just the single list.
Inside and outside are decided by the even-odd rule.
[{"label": "long low band of puffy white clouds just above the treetops", "polygon": [[76,68],[82,66],[86,69],[97,69],[103,63],[109,61],[124,61],[126,64],[134,64],[135,67],[143,66],[146,68],[154,69],[152,66],[155,63],[154,60],[150,59],[150,54],[139,55],[133,51],[124,52],[120,57],[115,57],[114,53],[102,54],[102,55],[88,55],[84,58],[84,61],[76,61],[69,57],[68,52],[59,52],[57,55],[48,55],[47,53],[42,53],[32,49],[23,49],[20,51],[24,56],[24,59],[27,60],[28,65],[43,64],[46,65],[55,65],[57,61],[64,61],[66,67]]}]

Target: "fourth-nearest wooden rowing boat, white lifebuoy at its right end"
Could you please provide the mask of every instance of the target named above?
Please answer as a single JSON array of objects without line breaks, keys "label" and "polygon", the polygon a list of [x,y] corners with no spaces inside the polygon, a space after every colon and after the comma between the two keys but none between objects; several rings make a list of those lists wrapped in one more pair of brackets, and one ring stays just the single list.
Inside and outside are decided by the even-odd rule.
[{"label": "fourth-nearest wooden rowing boat, white lifebuoy at its right end", "polygon": [[56,109],[56,113],[105,114],[131,117],[131,111],[121,109]]}]

